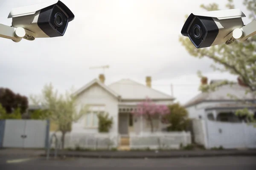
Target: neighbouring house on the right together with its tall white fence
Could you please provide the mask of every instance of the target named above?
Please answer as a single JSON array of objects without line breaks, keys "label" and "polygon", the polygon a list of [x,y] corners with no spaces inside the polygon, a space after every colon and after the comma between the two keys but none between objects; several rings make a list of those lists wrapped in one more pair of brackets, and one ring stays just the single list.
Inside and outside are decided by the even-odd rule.
[{"label": "neighbouring house on the right together with its tall white fence", "polygon": [[[219,81],[223,80],[210,83]],[[246,94],[247,89],[240,82],[223,85],[215,91],[200,93],[185,104],[193,119],[192,136],[196,143],[206,148],[256,148],[256,128],[235,114],[238,109],[247,108],[256,118],[256,98],[252,93]]]}]

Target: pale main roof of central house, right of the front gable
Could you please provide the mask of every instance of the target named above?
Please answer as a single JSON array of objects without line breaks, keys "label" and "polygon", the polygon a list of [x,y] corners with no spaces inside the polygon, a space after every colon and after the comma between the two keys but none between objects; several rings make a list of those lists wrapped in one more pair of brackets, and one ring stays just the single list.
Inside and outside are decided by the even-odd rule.
[{"label": "pale main roof of central house, right of the front gable", "polygon": [[149,88],[146,85],[135,82],[131,79],[121,79],[108,85],[113,91],[119,94],[122,99],[141,100],[149,97],[155,100],[174,100],[175,98],[160,91]]}]

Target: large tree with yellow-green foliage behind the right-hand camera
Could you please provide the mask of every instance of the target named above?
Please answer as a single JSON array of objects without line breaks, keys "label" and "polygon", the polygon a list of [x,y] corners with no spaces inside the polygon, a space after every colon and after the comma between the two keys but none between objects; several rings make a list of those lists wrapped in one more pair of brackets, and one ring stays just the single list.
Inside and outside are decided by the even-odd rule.
[{"label": "large tree with yellow-green foliage behind the right-hand camera", "polygon": [[[244,0],[244,5],[250,11],[250,18],[256,20],[256,1]],[[207,6],[201,5],[207,11],[219,10],[216,3]],[[235,8],[233,0],[228,0],[227,8]],[[248,87],[245,93],[251,93],[256,96],[256,36],[250,37],[244,42],[235,41],[230,45],[220,44],[209,48],[195,48],[192,42],[187,37],[180,36],[181,44],[194,57],[207,57],[212,59],[217,65],[212,65],[215,71],[229,72],[230,74],[238,76],[238,81],[242,82]],[[201,72],[198,72],[200,77]],[[202,85],[200,90],[203,92],[214,91],[222,85],[232,85],[233,82],[223,81],[212,85]],[[238,96],[232,96],[238,98]],[[246,110],[243,110],[246,111]],[[241,113],[239,111],[237,113]],[[243,112],[244,113],[244,112]],[[246,113],[250,114],[250,113]]]}]

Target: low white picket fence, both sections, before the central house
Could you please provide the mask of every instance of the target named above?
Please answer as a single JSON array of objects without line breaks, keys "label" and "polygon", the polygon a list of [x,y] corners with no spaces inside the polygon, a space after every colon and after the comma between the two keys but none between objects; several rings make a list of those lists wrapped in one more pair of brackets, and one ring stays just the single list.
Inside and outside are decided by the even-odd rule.
[{"label": "low white picket fence, both sections, before the central house", "polygon": [[[61,133],[56,133],[56,136],[61,141]],[[64,148],[111,149],[119,146],[120,138],[119,135],[108,133],[67,133]],[[183,146],[191,144],[190,132],[143,133],[140,135],[131,133],[129,138],[131,149],[179,149],[180,144]],[[54,147],[54,141],[51,147]]]}]

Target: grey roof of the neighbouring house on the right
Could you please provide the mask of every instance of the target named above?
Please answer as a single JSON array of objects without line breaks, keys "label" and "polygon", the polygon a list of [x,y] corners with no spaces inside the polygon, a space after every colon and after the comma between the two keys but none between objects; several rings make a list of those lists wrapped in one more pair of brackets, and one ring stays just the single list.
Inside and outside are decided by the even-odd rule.
[{"label": "grey roof of the neighbouring house on the right", "polygon": [[[211,83],[219,82],[221,80],[213,80]],[[222,80],[223,81],[223,80]],[[222,85],[218,88],[216,88],[215,91],[212,92],[204,92],[201,94],[198,94],[191,100],[189,100],[184,106],[189,107],[192,105],[196,105],[201,102],[205,101],[230,101],[234,100],[231,99],[230,96],[227,96],[227,94],[231,94],[234,96],[237,96],[239,99],[242,100],[253,100],[253,95],[251,93],[245,94],[246,90],[248,90],[247,87],[241,86],[238,83],[230,85]]]}]

